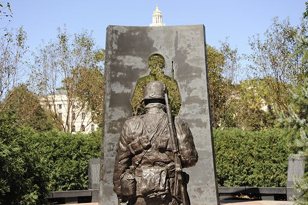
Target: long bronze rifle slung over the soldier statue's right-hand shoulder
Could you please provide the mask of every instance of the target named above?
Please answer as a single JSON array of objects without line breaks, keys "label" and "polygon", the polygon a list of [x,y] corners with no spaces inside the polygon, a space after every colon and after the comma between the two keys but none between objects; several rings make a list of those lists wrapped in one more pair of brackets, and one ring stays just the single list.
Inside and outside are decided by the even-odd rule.
[{"label": "long bronze rifle slung over the soldier statue's right-hand shoulder", "polygon": [[171,105],[169,104],[168,90],[167,90],[166,85],[164,85],[164,90],[165,90],[164,95],[165,95],[165,102],[166,102],[166,113],[167,113],[167,118],[168,118],[169,134],[171,137],[172,152],[174,153],[174,156],[175,156],[176,174],[175,174],[175,189],[174,189],[173,195],[177,198],[178,188],[180,185],[182,204],[189,205],[190,202],[188,199],[186,186],[184,185],[184,181],[183,181],[183,170],[182,170],[181,158],[180,158],[180,153],[179,153],[178,140],[176,136],[174,120],[172,118]]}]

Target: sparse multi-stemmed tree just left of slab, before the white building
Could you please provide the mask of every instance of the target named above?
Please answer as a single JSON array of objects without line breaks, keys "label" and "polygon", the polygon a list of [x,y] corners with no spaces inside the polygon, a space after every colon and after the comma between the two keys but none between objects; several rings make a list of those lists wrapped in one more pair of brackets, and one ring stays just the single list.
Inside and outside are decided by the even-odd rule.
[{"label": "sparse multi-stemmed tree just left of slab, before the white building", "polygon": [[[92,34],[84,30],[72,38],[66,28],[58,28],[57,39],[41,46],[34,57],[35,89],[63,131],[73,132],[74,122],[82,113],[92,116],[84,120],[85,127],[98,123],[103,104],[104,50],[95,47]],[[63,104],[67,104],[65,119],[56,112],[59,89],[64,90]]]}]

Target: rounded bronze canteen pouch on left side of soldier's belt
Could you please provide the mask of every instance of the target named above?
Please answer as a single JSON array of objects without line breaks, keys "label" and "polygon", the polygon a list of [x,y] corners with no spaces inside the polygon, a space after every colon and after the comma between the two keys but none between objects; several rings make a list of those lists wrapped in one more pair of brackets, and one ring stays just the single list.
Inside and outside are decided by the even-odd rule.
[{"label": "rounded bronze canteen pouch on left side of soldier's belt", "polygon": [[124,196],[136,196],[136,179],[134,174],[130,170],[125,170],[125,172],[120,176],[121,180],[121,193]]}]

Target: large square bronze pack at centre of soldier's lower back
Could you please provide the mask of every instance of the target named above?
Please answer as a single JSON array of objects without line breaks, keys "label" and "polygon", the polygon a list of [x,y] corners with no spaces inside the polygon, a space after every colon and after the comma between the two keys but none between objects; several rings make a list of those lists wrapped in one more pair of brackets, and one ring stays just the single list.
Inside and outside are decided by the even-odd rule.
[{"label": "large square bronze pack at centre of soldier's lower back", "polygon": [[141,170],[140,191],[143,196],[166,191],[167,169],[165,167],[142,167]]}]

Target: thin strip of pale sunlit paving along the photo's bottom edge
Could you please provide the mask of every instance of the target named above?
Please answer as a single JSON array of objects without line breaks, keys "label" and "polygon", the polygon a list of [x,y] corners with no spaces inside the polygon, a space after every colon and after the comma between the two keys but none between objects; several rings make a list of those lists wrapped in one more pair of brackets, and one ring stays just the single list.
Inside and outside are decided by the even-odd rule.
[{"label": "thin strip of pale sunlit paving along the photo's bottom edge", "polygon": [[[293,201],[244,201],[244,200],[221,200],[223,205],[293,205]],[[70,205],[98,205],[99,203],[75,203]]]}]

